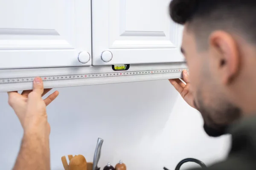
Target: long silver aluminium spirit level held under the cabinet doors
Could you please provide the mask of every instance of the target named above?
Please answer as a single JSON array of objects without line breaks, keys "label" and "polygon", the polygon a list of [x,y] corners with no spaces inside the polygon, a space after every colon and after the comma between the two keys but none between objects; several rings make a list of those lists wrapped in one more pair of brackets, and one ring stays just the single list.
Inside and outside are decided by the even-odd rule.
[{"label": "long silver aluminium spirit level held under the cabinet doors", "polygon": [[113,71],[111,66],[0,70],[0,92],[32,89],[35,77],[44,80],[45,88],[60,88],[180,78],[184,69],[184,63],[170,63],[131,65],[127,71]]}]

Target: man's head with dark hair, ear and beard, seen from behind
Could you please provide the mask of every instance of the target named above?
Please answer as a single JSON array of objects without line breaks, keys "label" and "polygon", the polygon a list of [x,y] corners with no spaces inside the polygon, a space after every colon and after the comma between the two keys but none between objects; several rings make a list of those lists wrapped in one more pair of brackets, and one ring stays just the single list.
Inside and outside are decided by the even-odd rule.
[{"label": "man's head with dark hair, ear and beard, seen from behind", "polygon": [[222,131],[255,108],[256,1],[172,0],[169,10],[184,25],[181,51],[195,106],[207,127]]}]

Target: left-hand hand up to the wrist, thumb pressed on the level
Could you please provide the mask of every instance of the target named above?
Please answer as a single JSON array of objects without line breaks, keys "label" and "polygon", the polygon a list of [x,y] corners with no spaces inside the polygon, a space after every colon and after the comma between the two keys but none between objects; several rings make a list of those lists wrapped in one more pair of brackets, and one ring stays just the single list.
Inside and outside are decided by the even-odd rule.
[{"label": "left-hand hand up to the wrist, thumb pressed on the level", "polygon": [[46,106],[58,96],[58,91],[55,91],[43,100],[42,96],[50,90],[44,90],[43,81],[38,77],[34,79],[33,90],[23,91],[21,94],[17,91],[8,92],[9,105],[18,116],[25,133],[27,131],[30,133],[30,130],[39,130],[42,127],[50,130]]}]

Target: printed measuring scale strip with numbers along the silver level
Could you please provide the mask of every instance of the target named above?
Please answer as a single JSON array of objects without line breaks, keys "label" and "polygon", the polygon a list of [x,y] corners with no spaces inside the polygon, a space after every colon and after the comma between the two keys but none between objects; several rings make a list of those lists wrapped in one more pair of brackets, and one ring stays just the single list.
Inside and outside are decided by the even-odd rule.
[{"label": "printed measuring scale strip with numbers along the silver level", "polygon": [[[117,77],[117,76],[136,76],[147,74],[166,74],[166,73],[178,73],[183,69],[166,69],[166,70],[148,70],[148,71],[123,71],[123,72],[111,72],[111,73],[96,73],[96,74],[76,74],[76,75],[58,75],[41,77],[43,81],[55,81],[55,80],[68,80],[68,79],[89,79],[97,77]],[[15,82],[32,82],[35,77],[22,77],[11,79],[0,79],[0,84],[3,83],[15,83]]]}]

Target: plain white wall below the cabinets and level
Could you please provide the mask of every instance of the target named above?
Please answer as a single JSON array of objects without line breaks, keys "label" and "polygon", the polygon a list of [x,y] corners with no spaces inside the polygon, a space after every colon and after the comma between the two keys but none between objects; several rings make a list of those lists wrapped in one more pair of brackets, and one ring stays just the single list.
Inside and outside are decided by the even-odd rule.
[{"label": "plain white wall below the cabinets and level", "polygon": [[[100,167],[122,159],[128,170],[174,170],[193,157],[208,165],[224,159],[229,136],[209,138],[200,113],[190,108],[168,80],[58,89],[48,106],[52,170],[63,170],[61,156],[93,160],[97,138],[104,139]],[[9,170],[22,129],[0,94],[0,169]],[[193,164],[184,164],[186,169]]]}]

